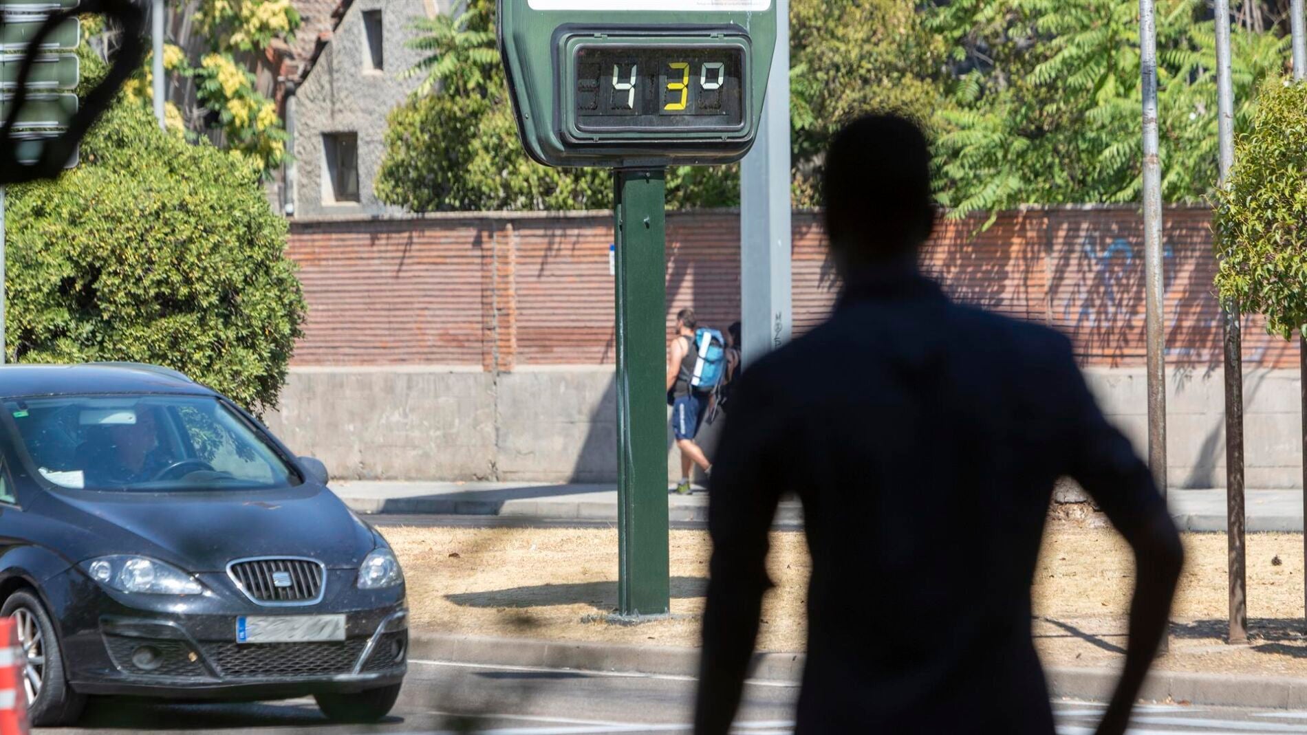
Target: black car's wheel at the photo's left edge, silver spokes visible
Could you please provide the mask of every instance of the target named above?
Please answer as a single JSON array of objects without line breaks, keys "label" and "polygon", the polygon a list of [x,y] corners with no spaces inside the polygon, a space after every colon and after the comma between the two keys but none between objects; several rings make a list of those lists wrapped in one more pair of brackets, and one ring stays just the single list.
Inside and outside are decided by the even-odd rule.
[{"label": "black car's wheel at the photo's left edge, silver spokes visible", "polygon": [[72,691],[64,678],[64,657],[44,606],[37,595],[20,590],[9,595],[0,615],[13,618],[18,645],[27,654],[22,683],[27,693],[27,721],[35,726],[72,725],[81,717],[86,697]]}]

